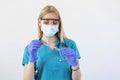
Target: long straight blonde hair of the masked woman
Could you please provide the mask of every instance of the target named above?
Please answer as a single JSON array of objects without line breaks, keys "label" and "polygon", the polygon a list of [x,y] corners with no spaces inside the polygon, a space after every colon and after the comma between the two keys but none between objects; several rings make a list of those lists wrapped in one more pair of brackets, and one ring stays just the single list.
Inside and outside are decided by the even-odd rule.
[{"label": "long straight blonde hair of the masked woman", "polygon": [[41,31],[41,24],[40,24],[41,18],[48,13],[54,13],[60,19],[59,20],[59,23],[60,23],[59,24],[59,31],[58,31],[58,33],[56,33],[56,36],[60,39],[60,42],[63,42],[63,39],[66,38],[66,35],[64,33],[64,30],[63,30],[61,17],[60,17],[60,14],[59,14],[58,10],[54,6],[51,6],[51,5],[48,5],[48,6],[44,7],[41,10],[41,13],[38,17],[38,37],[39,37],[39,39],[41,39],[42,36],[43,36],[43,32]]}]

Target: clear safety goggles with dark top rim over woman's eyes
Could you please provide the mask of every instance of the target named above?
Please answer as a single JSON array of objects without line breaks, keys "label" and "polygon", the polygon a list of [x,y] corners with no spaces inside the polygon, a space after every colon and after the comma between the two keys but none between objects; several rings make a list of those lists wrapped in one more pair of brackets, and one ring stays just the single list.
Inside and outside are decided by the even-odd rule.
[{"label": "clear safety goggles with dark top rim over woman's eyes", "polygon": [[59,25],[60,19],[54,18],[41,18],[43,24],[46,25]]}]

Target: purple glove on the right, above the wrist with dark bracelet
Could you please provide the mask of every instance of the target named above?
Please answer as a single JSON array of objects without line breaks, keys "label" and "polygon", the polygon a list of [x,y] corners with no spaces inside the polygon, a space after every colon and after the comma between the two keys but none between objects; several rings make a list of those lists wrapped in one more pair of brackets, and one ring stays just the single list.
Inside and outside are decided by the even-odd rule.
[{"label": "purple glove on the right, above the wrist with dark bracelet", "polygon": [[76,59],[75,51],[71,48],[62,48],[60,49],[60,54],[65,56],[70,63],[71,66],[76,66],[78,64],[78,61]]}]

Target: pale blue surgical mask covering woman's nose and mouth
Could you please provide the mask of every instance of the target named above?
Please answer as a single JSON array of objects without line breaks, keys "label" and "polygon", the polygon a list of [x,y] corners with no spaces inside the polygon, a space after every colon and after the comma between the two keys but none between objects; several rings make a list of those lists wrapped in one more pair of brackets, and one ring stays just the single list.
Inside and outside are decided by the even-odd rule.
[{"label": "pale blue surgical mask covering woman's nose and mouth", "polygon": [[45,34],[47,37],[53,37],[58,31],[58,25],[41,25],[41,30],[43,31],[43,34]]}]

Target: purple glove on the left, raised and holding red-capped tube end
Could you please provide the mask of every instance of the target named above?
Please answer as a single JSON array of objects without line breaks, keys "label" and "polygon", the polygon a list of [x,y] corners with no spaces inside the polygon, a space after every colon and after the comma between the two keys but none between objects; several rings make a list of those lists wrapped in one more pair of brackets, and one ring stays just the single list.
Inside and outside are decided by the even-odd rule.
[{"label": "purple glove on the left, raised and holding red-capped tube end", "polygon": [[29,62],[36,62],[37,60],[37,50],[41,46],[39,40],[32,40],[28,45],[29,51]]}]

